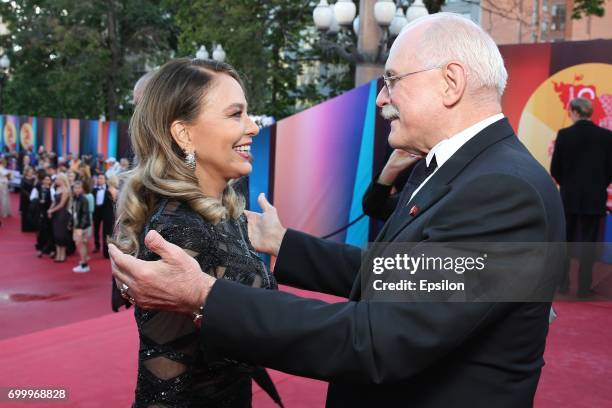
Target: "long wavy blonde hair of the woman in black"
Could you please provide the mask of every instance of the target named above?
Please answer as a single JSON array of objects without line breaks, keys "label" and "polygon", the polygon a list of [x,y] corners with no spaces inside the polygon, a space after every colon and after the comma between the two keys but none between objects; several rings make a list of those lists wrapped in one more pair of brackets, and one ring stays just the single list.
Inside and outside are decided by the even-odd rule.
[{"label": "long wavy blonde hair of the woman in black", "polygon": [[161,198],[186,202],[212,223],[238,218],[244,198],[230,182],[222,200],[200,190],[185,154],[174,141],[170,127],[175,121],[193,123],[207,90],[217,75],[229,75],[243,87],[238,73],[228,64],[180,58],[161,67],[146,85],[130,121],[134,166],[126,172],[117,204],[114,243],[125,253],[137,255],[144,223]]}]

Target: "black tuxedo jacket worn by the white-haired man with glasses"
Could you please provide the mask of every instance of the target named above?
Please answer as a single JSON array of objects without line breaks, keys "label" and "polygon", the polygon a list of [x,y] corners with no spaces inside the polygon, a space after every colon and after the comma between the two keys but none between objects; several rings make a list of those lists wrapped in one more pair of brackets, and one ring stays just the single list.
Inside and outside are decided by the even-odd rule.
[{"label": "black tuxedo jacket worn by the white-haired man with glasses", "polygon": [[[506,119],[462,146],[410,205],[420,212],[398,208],[379,240],[545,242],[565,234],[552,179]],[[327,304],[219,280],[204,308],[204,350],[329,381],[329,407],[532,405],[550,303],[364,301],[361,255],[289,230],[279,282],[349,300]]]}]

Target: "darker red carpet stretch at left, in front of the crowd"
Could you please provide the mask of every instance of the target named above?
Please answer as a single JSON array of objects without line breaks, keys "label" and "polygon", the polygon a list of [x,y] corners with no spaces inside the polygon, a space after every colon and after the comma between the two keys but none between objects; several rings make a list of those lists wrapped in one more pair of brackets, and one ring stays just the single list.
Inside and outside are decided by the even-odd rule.
[{"label": "darker red carpet stretch at left, in front of the crowd", "polygon": [[76,255],[59,264],[37,258],[36,235],[21,232],[18,196],[11,198],[13,216],[0,227],[0,339],[111,312],[108,260],[92,254],[91,272],[76,274]]}]

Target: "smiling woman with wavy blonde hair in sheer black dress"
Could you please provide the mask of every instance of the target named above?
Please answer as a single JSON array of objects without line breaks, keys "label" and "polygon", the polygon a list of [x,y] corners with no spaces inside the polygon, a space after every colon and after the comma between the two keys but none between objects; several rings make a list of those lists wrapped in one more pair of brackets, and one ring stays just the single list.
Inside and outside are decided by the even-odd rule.
[{"label": "smiling woman with wavy blonde hair in sheer black dress", "polygon": [[[258,131],[229,65],[178,59],[160,68],[130,123],[135,163],[120,193],[118,247],[159,259],[143,242],[155,229],[205,273],[275,289],[248,240],[244,199],[230,185],[251,172],[250,146]],[[251,406],[251,378],[261,371],[202,350],[192,317],[137,307],[135,318],[135,407]]]}]

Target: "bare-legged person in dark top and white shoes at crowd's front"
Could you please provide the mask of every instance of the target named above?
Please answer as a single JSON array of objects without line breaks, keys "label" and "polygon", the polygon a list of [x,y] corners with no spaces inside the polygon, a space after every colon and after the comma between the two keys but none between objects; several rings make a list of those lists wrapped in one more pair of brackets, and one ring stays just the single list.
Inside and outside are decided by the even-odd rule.
[{"label": "bare-legged person in dark top and white shoes at crowd's front", "polygon": [[89,272],[87,255],[87,243],[89,242],[89,227],[91,219],[89,215],[89,202],[85,197],[83,183],[79,180],[75,181],[72,187],[72,226],[73,239],[76,243],[80,255],[80,263],[72,268],[72,272],[86,273]]}]

